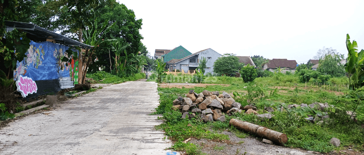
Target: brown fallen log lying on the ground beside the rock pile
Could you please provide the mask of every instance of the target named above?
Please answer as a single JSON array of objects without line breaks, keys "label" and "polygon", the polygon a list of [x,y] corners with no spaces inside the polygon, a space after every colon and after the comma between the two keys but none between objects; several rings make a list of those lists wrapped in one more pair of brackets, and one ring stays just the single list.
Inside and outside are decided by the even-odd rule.
[{"label": "brown fallen log lying on the ground beside the rock pile", "polygon": [[266,127],[248,123],[245,121],[231,119],[229,122],[230,125],[234,125],[236,128],[244,130],[246,132],[250,132],[251,134],[258,135],[260,137],[264,137],[268,140],[275,141],[277,143],[283,144],[287,142],[287,135],[268,129]]}]

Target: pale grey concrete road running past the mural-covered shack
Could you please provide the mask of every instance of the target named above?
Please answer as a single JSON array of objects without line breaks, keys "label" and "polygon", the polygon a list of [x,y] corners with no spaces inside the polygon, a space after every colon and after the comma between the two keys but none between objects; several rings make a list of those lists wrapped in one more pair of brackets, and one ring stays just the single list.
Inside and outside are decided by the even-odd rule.
[{"label": "pale grey concrete road running past the mural-covered shack", "polygon": [[149,115],[155,82],[132,81],[69,99],[0,130],[1,155],[176,155]]}]

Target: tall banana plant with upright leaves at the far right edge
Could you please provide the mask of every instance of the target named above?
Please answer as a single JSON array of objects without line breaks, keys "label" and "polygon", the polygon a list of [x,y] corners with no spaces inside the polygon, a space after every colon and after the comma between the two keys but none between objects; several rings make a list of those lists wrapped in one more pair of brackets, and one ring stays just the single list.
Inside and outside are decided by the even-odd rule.
[{"label": "tall banana plant with upright leaves at the far right edge", "polygon": [[347,63],[344,65],[345,71],[349,76],[349,89],[355,90],[363,86],[364,81],[364,50],[357,52],[358,43],[353,40],[350,42],[350,36],[347,34]]}]

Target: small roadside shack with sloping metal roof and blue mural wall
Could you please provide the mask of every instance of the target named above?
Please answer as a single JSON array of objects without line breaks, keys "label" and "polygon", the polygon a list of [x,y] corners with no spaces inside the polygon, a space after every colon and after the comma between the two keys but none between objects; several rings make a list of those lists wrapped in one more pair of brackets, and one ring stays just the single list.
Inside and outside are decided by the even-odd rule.
[{"label": "small roadside shack with sloping metal roof and blue mural wall", "polygon": [[[14,70],[17,91],[23,97],[35,97],[57,93],[73,88],[81,77],[78,73],[79,60],[62,62],[66,50],[71,47],[91,48],[92,46],[72,40],[58,33],[48,31],[32,23],[6,21],[7,31],[17,29],[27,33],[30,47],[23,61],[17,62]],[[71,50],[79,53],[78,50]],[[82,65],[80,65],[82,66]]]}]

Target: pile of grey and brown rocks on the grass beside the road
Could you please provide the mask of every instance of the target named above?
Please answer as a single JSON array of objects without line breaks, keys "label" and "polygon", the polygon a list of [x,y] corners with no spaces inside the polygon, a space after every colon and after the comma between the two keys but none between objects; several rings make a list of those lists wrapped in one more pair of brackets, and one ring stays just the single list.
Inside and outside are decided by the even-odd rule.
[{"label": "pile of grey and brown rocks on the grass beside the road", "polygon": [[[213,121],[226,121],[225,114],[231,115],[234,112],[254,113],[259,116],[255,111],[257,108],[254,106],[242,107],[240,103],[230,96],[230,94],[218,91],[210,92],[204,90],[201,93],[196,93],[190,90],[186,97],[178,97],[173,101],[173,109],[181,110],[182,118],[199,118],[204,122]],[[191,114],[189,113],[191,112]],[[270,115],[262,114],[263,117],[271,117]]]}]

